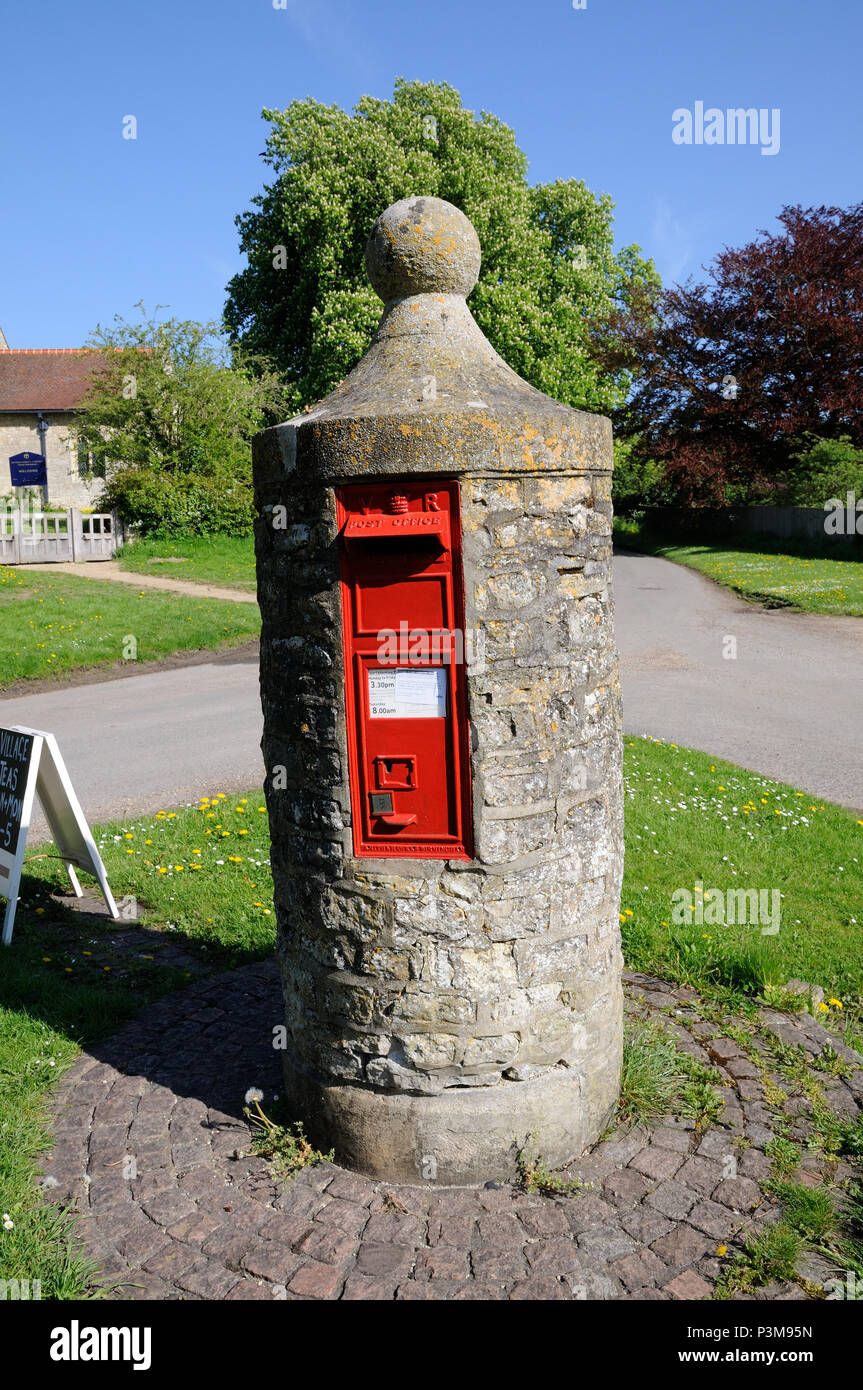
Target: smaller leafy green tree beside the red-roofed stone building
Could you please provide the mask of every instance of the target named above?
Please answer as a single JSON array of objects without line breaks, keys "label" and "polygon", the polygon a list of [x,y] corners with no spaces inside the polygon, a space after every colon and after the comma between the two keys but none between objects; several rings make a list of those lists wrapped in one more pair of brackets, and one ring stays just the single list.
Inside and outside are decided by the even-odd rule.
[{"label": "smaller leafy green tree beside the red-roofed stone building", "polygon": [[215,322],[115,316],[88,342],[89,388],[75,418],[82,456],[106,478],[100,505],[142,531],[247,531],[250,441],[283,414],[275,373],[231,353]]}]

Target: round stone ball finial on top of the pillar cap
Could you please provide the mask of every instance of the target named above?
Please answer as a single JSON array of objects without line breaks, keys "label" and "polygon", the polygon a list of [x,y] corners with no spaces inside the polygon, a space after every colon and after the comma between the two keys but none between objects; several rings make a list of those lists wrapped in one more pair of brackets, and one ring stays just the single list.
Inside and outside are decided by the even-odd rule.
[{"label": "round stone ball finial on top of the pillar cap", "polygon": [[470,295],[482,252],[472,222],[442,197],[403,197],[381,213],[365,270],[384,303],[409,295]]}]

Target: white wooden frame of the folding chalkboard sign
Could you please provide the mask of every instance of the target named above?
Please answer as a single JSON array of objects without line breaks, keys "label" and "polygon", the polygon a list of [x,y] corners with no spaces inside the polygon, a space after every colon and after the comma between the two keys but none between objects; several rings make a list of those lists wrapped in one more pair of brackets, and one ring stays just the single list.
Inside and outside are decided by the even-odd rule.
[{"label": "white wooden frame of the folding chalkboard sign", "polygon": [[44,813],[51,840],[57,845],[63,858],[75,897],[83,897],[83,888],[78,883],[75,869],[83,869],[93,874],[101,888],[101,895],[108,912],[114,919],[120,917],[120,910],[114,902],[114,895],[108,887],[108,878],[101,862],[101,855],[96,848],[96,841],[90,834],[72,780],[67,771],[57,739],[53,734],[42,728],[26,728],[24,724],[10,724],[13,734],[29,734],[33,739],[31,763],[28,769],[26,785],[21,798],[21,823],[18,826],[18,844],[15,853],[0,849],[0,898],[6,898],[6,916],[3,919],[3,945],[13,940],[15,924],[15,908],[18,905],[18,890],[21,887],[21,869],[24,866],[24,851],[26,848],[26,833],[33,810],[33,796]]}]

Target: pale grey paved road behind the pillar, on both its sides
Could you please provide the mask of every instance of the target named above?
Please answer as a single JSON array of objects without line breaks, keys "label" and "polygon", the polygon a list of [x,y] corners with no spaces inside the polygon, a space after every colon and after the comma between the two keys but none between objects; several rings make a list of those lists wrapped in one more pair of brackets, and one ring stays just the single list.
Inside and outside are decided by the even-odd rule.
[{"label": "pale grey paved road behind the pillar, on both its sides", "polygon": [[[628,733],[863,810],[863,620],[764,612],[635,555],[617,556],[616,603]],[[57,734],[92,821],[263,780],[254,657],[15,696],[0,723]]]}]

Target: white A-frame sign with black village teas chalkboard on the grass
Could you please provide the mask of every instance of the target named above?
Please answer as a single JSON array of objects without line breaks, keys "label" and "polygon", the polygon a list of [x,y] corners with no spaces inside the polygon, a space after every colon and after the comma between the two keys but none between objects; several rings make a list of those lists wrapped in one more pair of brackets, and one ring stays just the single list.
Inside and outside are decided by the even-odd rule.
[{"label": "white A-frame sign with black village teas chalkboard on the grass", "polygon": [[42,728],[0,728],[0,897],[6,898],[0,941],[4,947],[13,940],[35,798],[39,798],[57,856],[65,860],[76,897],[81,898],[83,890],[75,869],[85,869],[99,880],[111,916],[120,916],[57,739]]}]

